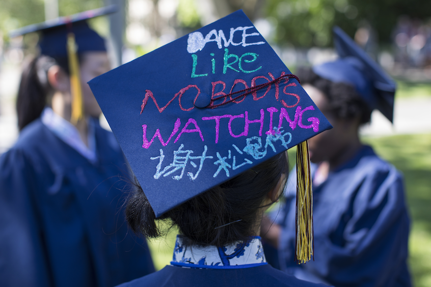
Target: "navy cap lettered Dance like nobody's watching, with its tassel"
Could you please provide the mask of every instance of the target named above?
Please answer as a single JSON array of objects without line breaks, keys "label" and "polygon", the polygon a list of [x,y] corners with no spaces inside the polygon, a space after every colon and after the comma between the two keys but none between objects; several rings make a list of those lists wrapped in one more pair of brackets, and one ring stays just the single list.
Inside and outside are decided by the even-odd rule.
[{"label": "navy cap lettered Dance like nobody's watching, with its tassel", "polygon": [[89,85],[157,217],[300,145],[300,246],[311,251],[306,140],[331,125],[243,11]]}]

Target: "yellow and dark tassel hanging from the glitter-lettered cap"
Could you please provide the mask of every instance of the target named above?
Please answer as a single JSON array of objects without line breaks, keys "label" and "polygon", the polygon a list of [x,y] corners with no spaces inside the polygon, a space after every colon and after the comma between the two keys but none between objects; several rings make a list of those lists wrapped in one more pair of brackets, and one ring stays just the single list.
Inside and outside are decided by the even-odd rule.
[{"label": "yellow and dark tassel hanging from the glitter-lettered cap", "polygon": [[297,146],[297,240],[295,261],[311,260],[313,255],[313,191],[311,186],[308,140]]}]

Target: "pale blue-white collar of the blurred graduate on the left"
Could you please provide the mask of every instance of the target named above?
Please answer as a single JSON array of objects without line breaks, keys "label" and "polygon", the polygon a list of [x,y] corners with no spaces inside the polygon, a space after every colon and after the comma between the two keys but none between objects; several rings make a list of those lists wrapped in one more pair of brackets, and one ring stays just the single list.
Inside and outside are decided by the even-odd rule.
[{"label": "pale blue-white collar of the blurred graduate on the left", "polygon": [[97,161],[96,136],[94,123],[92,123],[91,120],[88,121],[88,147],[83,142],[76,127],[56,114],[50,107],[45,107],[43,109],[41,121],[51,132],[91,163]]}]

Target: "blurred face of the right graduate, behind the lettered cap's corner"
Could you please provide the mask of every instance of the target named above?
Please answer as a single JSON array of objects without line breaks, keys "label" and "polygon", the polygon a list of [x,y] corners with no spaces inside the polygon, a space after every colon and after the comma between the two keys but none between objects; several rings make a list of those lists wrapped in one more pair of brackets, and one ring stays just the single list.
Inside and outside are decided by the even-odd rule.
[{"label": "blurred face of the right graduate, behind the lettered cap's corner", "polygon": [[330,111],[324,93],[310,84],[303,85],[304,90],[333,126],[332,129],[319,133],[308,140],[311,162],[331,161],[343,152],[348,145],[351,124],[337,119]]}]

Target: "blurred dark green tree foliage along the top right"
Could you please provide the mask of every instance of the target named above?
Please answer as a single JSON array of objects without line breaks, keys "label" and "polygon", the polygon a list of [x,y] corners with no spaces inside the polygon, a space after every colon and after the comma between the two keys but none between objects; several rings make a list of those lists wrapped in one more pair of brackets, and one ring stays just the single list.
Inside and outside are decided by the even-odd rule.
[{"label": "blurred dark green tree foliage along the top right", "polygon": [[275,41],[300,46],[331,46],[331,29],[340,26],[355,35],[372,27],[379,42],[390,44],[400,15],[428,21],[428,0],[268,0],[266,16],[277,25]]}]

